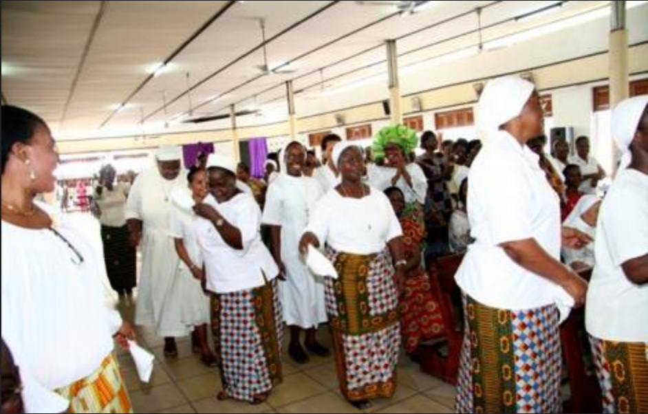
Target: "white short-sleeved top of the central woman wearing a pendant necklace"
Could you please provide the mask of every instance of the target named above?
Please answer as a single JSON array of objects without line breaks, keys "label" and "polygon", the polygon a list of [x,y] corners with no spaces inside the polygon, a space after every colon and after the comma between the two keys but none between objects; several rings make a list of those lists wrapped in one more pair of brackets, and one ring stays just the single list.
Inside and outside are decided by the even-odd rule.
[{"label": "white short-sleeved top of the central woman wearing a pendant necklace", "polygon": [[369,195],[343,197],[330,190],[318,201],[304,232],[312,232],[321,247],[338,252],[374,254],[402,235],[398,217],[385,194],[369,187]]}]

